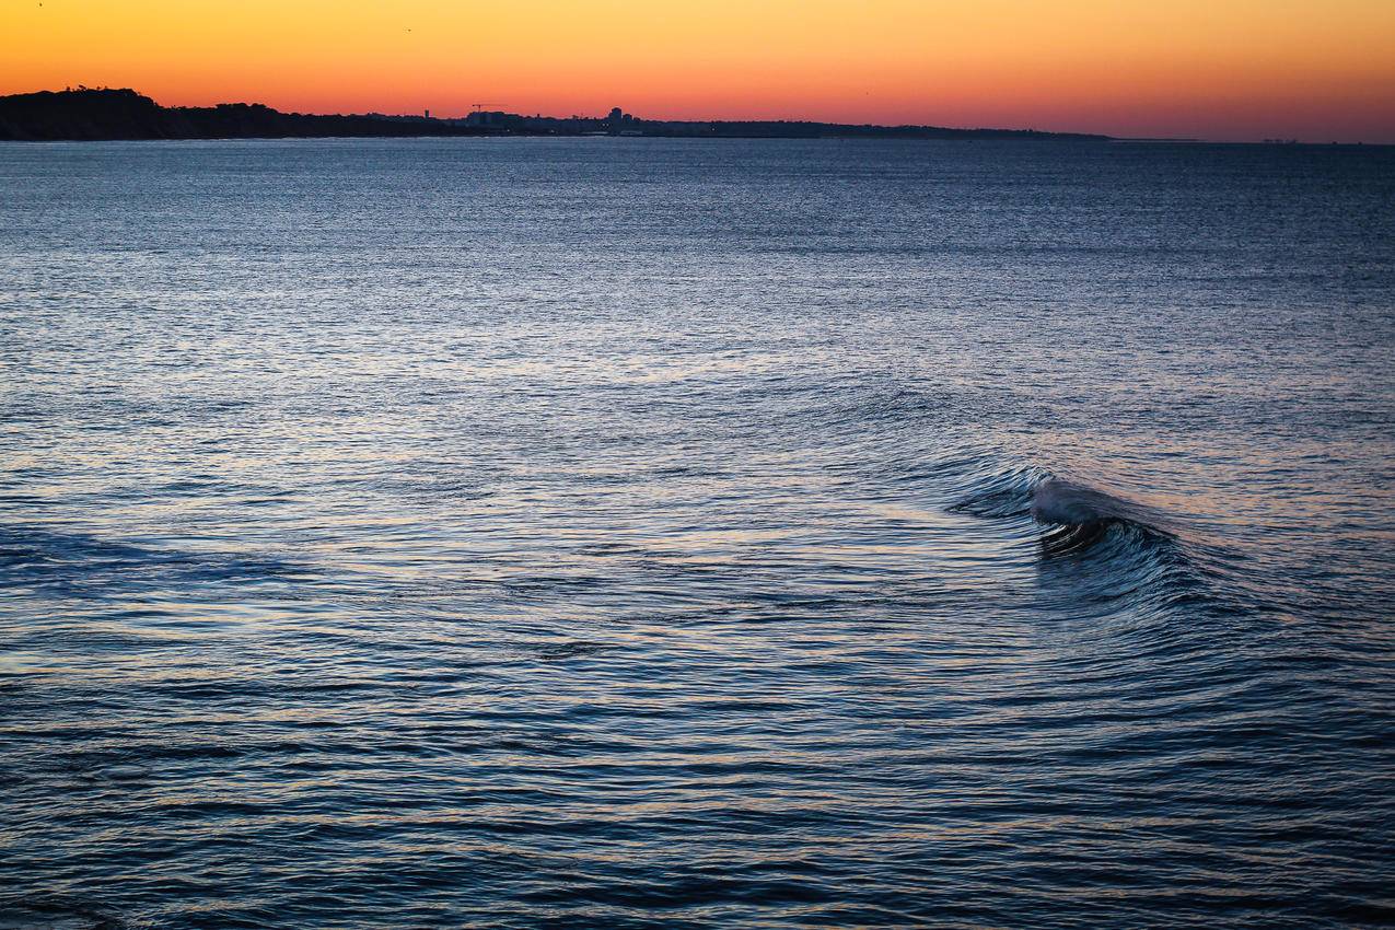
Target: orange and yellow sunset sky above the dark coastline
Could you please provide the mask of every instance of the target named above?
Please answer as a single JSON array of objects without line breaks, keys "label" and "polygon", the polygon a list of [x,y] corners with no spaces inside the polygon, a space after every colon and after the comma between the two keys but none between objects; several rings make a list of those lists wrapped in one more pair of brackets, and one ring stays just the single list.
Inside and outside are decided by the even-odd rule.
[{"label": "orange and yellow sunset sky above the dark coastline", "polygon": [[0,0],[0,93],[1395,142],[1395,0]]}]

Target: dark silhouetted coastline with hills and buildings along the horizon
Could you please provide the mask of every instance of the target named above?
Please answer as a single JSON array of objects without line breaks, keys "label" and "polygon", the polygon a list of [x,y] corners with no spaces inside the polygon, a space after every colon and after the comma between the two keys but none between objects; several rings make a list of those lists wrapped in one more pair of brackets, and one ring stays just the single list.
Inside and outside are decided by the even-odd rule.
[{"label": "dark silhouetted coastline with hills and buildings along the horizon", "polygon": [[618,107],[605,117],[478,112],[430,116],[312,116],[261,103],[160,106],[135,91],[39,91],[0,96],[0,139],[225,139],[413,135],[638,135],[668,138],[894,138],[1108,142],[1108,135],[1035,130],[951,130],[935,125],[852,125],[809,121],[644,120]]}]

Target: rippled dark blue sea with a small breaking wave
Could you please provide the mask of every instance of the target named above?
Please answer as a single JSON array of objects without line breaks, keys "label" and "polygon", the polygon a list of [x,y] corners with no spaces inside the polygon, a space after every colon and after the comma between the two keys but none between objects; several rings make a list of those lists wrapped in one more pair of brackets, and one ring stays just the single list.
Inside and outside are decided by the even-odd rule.
[{"label": "rippled dark blue sea with a small breaking wave", "polygon": [[0,926],[1395,920],[1395,151],[0,146]]}]

